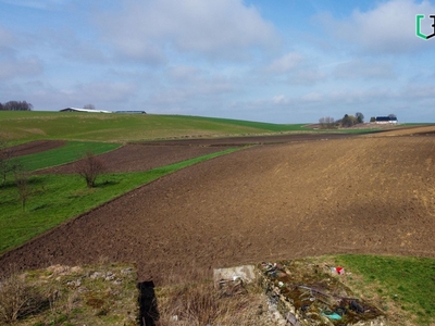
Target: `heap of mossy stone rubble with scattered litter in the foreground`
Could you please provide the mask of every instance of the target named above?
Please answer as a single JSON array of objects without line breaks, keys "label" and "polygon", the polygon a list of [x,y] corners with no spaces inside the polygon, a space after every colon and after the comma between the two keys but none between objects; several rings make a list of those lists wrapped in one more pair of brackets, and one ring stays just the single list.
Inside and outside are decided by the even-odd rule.
[{"label": "heap of mossy stone rubble with scattered litter in the foreground", "polygon": [[271,312],[279,312],[284,325],[388,325],[378,309],[352,298],[350,290],[339,281],[344,267],[333,269],[301,260],[264,262],[259,269]]}]

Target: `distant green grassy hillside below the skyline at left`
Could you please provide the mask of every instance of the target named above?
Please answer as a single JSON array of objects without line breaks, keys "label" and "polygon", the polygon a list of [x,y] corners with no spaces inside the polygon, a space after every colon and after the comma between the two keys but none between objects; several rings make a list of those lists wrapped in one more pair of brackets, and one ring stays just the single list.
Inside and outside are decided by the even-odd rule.
[{"label": "distant green grassy hillside below the skyline at left", "polygon": [[281,125],[183,115],[0,112],[0,136],[14,142],[38,139],[119,142],[295,130],[309,129],[302,124]]}]

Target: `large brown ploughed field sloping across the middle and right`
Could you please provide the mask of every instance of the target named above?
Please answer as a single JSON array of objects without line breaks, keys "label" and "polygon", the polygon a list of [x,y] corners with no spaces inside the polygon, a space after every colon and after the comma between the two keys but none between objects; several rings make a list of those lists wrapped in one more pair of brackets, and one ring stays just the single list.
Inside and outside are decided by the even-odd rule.
[{"label": "large brown ploughed field sloping across the middle and right", "polygon": [[134,262],[139,280],[330,253],[435,256],[435,137],[257,146],[163,177],[0,258]]}]

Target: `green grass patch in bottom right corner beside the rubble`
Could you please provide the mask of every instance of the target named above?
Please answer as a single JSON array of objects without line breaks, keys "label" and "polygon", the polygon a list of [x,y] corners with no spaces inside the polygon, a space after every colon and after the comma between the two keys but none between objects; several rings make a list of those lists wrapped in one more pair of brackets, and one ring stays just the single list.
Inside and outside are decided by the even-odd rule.
[{"label": "green grass patch in bottom right corner beside the rubble", "polygon": [[362,276],[350,279],[352,288],[378,300],[385,312],[393,311],[391,315],[405,316],[405,321],[412,316],[417,325],[434,325],[434,259],[340,255],[336,262]]}]

